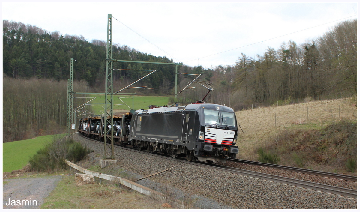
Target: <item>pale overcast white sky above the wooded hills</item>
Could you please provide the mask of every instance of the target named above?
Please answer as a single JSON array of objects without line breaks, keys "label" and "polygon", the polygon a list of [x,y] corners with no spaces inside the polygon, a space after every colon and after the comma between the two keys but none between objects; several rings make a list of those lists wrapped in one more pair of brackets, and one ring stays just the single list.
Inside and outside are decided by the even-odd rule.
[{"label": "pale overcast white sky above the wooded hills", "polygon": [[337,23],[356,19],[357,3],[2,3],[3,20],[82,35],[89,42],[106,41],[108,14],[113,43],[214,68],[234,65],[241,53],[256,58],[289,40],[311,42]]}]

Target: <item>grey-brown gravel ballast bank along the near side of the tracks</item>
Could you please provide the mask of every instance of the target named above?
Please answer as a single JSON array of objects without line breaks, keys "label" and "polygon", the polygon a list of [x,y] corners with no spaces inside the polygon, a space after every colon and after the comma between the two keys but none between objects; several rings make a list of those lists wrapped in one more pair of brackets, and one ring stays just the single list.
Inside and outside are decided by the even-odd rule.
[{"label": "grey-brown gravel ballast bank along the near side of the tracks", "polygon": [[[95,150],[93,155],[103,154],[103,144],[89,141],[78,135],[74,138]],[[357,200],[353,198],[197,167],[120,148],[115,148],[114,154],[118,163],[112,164],[112,168],[123,168],[142,176],[177,165],[176,168],[149,179],[170,183],[194,195],[202,195],[216,200],[221,205],[229,204],[234,209],[357,208]],[[208,208],[207,205],[197,207]]]}]

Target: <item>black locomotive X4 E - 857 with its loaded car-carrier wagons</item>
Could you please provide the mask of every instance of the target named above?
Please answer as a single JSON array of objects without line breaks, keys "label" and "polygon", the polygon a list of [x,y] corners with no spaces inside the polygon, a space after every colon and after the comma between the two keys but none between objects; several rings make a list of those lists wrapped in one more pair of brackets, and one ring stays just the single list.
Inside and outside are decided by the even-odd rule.
[{"label": "black locomotive X4 E - 857 with its loaded car-carrier wagons", "polygon": [[[227,157],[235,158],[239,152],[235,146],[236,116],[229,107],[189,104],[150,108],[114,116],[114,142],[209,163],[225,163]],[[82,118],[79,132],[101,140],[103,123],[103,116]]]}]

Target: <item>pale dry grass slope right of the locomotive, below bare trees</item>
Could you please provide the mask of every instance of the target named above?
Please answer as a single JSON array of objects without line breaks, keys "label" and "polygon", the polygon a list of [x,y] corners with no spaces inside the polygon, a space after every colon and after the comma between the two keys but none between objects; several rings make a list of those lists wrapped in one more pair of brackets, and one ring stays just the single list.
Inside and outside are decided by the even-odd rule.
[{"label": "pale dry grass slope right of the locomotive, below bare trees", "polygon": [[276,142],[275,134],[285,128],[318,129],[335,121],[357,120],[356,100],[351,99],[256,108],[238,111],[235,114],[238,124],[244,131],[242,133],[240,130],[238,134],[238,158],[249,160],[256,160],[256,149],[264,146],[269,138]]}]

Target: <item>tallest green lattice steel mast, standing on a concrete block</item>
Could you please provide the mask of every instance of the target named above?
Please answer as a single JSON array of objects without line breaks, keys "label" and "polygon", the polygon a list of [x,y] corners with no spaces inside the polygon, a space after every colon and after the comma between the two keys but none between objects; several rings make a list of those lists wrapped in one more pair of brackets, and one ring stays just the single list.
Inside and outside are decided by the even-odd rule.
[{"label": "tallest green lattice steel mast, standing on a concrete block", "polygon": [[[112,14],[108,14],[108,32],[106,44],[106,74],[105,74],[105,126],[104,126],[104,157],[114,159],[113,132],[113,58],[112,58]],[[109,120],[107,117],[110,116]],[[109,132],[107,126],[110,125]],[[109,135],[107,135],[109,134]],[[109,145],[107,144],[109,141]]]}]

